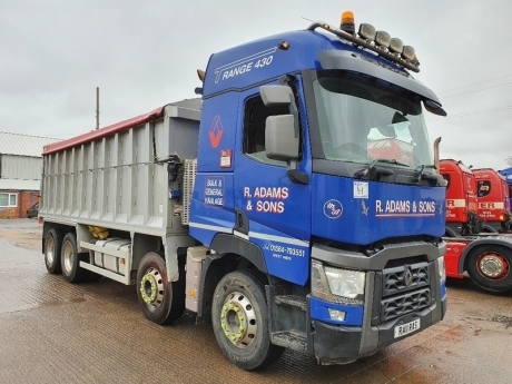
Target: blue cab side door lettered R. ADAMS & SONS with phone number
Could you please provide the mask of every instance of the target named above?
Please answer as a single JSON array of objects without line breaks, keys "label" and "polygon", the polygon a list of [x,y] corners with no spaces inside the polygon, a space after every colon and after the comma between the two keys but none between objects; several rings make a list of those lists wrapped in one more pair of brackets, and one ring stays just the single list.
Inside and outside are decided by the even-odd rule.
[{"label": "blue cab side door lettered R. ADAMS & SONS with phone number", "polygon": [[[304,102],[295,87],[301,116]],[[304,285],[309,274],[311,189],[288,177],[286,161],[266,156],[265,126],[269,116],[288,115],[289,107],[266,107],[259,88],[243,92],[235,154],[235,234],[262,249],[269,274]],[[311,176],[305,118],[301,120],[297,170]]]}]

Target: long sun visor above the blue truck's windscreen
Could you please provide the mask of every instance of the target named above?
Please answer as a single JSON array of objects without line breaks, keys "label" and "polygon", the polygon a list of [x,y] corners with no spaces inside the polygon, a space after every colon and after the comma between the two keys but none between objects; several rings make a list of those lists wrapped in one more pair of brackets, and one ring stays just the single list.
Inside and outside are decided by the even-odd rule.
[{"label": "long sun visor above the blue truck's windscreen", "polygon": [[382,63],[372,60],[371,58],[364,57],[355,52],[327,50],[318,52],[318,58],[323,69],[345,69],[354,72],[360,72],[375,77],[394,83],[398,87],[408,89],[410,91],[417,93],[425,99],[432,100],[441,106],[437,96],[408,75],[401,75],[395,72],[393,69],[384,67]]}]

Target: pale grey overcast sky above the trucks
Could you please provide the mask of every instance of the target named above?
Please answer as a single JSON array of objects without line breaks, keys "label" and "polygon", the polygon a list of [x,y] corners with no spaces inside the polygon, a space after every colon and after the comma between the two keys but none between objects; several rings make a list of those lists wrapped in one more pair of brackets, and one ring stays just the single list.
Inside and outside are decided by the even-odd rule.
[{"label": "pale grey overcast sky above the trucks", "polygon": [[475,168],[512,156],[510,0],[0,0],[0,131],[69,138],[194,98],[211,53],[309,21],[356,24],[416,49],[441,157]]}]

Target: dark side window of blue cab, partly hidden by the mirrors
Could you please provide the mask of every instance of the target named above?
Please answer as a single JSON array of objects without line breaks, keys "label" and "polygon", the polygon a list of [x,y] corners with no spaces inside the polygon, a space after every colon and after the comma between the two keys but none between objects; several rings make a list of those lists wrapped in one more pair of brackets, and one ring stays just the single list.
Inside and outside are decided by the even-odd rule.
[{"label": "dark side window of blue cab, partly hidden by the mirrors", "polygon": [[269,116],[288,114],[288,106],[266,107],[259,96],[247,100],[244,110],[244,154],[260,163],[285,167],[286,161],[269,159],[265,154],[265,122]]}]

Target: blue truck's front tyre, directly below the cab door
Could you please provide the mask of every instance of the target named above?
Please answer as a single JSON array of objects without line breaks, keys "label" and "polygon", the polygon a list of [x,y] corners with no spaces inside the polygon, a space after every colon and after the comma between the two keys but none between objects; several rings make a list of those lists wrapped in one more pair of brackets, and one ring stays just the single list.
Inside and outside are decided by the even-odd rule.
[{"label": "blue truck's front tyre, directly below the cab door", "polygon": [[224,276],[211,303],[215,338],[224,356],[243,370],[262,368],[284,352],[270,343],[266,278],[244,269]]}]

